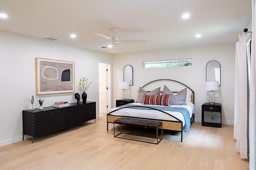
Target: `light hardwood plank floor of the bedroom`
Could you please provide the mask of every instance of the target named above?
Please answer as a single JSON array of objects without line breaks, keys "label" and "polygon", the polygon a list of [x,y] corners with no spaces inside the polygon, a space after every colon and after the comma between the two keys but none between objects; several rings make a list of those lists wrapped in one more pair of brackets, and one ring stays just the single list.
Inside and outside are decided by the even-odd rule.
[{"label": "light hardwood plank floor of the bedroom", "polygon": [[[118,125],[120,126],[120,125]],[[118,129],[117,126],[117,129]],[[233,126],[202,127],[193,122],[183,142],[164,132],[158,145],[113,137],[106,115],[96,123],[43,139],[0,147],[1,170],[248,170],[236,152]]]}]

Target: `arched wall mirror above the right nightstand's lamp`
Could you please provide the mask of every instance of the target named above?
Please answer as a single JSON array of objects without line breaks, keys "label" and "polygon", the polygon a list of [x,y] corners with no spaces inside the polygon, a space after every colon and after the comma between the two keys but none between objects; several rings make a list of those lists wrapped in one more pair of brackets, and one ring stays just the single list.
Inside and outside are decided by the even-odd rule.
[{"label": "arched wall mirror above the right nightstand's lamp", "polygon": [[206,82],[218,81],[220,86],[220,63],[209,61],[206,64]]}]

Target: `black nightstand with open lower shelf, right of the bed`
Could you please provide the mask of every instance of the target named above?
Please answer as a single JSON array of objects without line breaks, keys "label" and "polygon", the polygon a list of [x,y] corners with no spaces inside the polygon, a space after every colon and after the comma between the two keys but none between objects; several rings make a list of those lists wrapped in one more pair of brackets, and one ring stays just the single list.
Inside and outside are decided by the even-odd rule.
[{"label": "black nightstand with open lower shelf, right of the bed", "polygon": [[202,126],[221,127],[222,121],[222,104],[209,104],[202,105]]}]

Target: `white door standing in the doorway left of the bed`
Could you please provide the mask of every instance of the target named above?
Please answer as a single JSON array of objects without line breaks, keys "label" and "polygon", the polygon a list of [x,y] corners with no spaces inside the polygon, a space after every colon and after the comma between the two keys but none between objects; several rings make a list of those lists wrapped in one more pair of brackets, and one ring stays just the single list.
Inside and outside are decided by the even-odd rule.
[{"label": "white door standing in the doorway left of the bed", "polygon": [[99,63],[99,113],[107,113],[107,68],[108,64]]}]

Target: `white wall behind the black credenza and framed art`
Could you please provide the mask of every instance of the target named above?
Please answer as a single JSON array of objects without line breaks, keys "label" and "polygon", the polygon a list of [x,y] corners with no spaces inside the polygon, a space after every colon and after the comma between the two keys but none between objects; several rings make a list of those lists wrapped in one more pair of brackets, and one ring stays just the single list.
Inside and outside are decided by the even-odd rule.
[{"label": "white wall behind the black credenza and framed art", "polygon": [[98,63],[112,64],[112,55],[0,31],[0,57],[0,146],[22,140],[22,110],[32,108],[32,95],[36,108],[38,98],[45,99],[44,107],[76,102],[73,93],[36,95],[36,57],[74,61],[76,92],[81,94],[78,79],[89,78],[87,100],[96,101],[98,117]]}]

